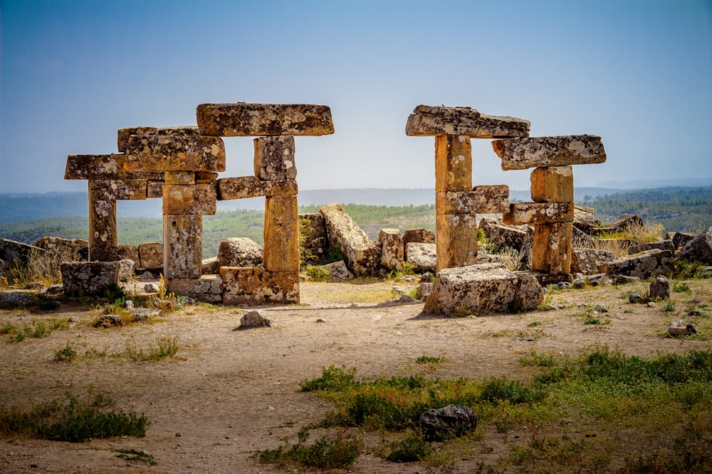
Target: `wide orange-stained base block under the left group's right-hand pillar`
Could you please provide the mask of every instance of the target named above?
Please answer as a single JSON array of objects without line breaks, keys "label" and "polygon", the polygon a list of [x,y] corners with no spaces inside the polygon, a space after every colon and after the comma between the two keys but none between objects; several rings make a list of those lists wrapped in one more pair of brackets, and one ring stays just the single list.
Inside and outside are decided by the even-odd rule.
[{"label": "wide orange-stained base block under the left group's right-hand pillar", "polygon": [[299,274],[295,271],[266,271],[261,266],[221,266],[223,303],[298,303]]}]

